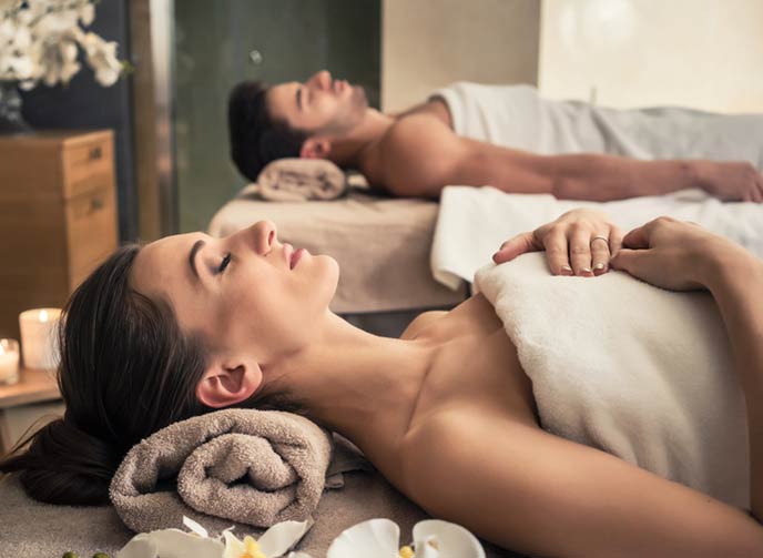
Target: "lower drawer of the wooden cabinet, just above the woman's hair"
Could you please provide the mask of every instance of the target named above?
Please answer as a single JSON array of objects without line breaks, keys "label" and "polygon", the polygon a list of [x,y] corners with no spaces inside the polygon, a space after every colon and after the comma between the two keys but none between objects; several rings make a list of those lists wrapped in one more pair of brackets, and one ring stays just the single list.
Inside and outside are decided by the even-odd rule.
[{"label": "lower drawer of the wooden cabinet, just above the woman's hair", "polygon": [[116,203],[111,185],[67,201],[64,209],[70,277],[113,251]]}]

